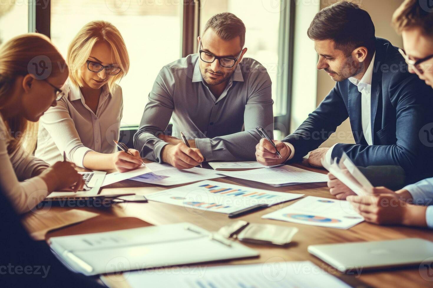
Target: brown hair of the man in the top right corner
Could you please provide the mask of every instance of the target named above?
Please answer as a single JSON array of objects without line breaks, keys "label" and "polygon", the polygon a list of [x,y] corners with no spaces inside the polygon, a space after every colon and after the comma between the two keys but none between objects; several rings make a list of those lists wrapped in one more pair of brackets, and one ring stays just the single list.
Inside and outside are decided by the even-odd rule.
[{"label": "brown hair of the man in the top right corner", "polygon": [[427,1],[405,0],[392,16],[395,30],[401,33],[407,28],[420,27],[424,34],[433,35],[433,9],[427,6]]}]

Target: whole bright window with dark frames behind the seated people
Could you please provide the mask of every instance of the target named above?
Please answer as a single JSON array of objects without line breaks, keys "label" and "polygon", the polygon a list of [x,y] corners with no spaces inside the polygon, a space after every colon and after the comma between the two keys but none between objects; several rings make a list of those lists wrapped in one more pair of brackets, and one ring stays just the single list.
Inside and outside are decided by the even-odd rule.
[{"label": "whole bright window with dark frames behind the seated people", "polygon": [[65,56],[69,42],[87,22],[106,20],[122,33],[131,60],[129,73],[120,82],[122,128],[131,135],[162,66],[197,53],[197,36],[210,16],[236,14],[246,25],[245,57],[262,63],[273,83],[275,129],[281,134],[275,133],[275,138],[288,133],[293,0],[48,0],[47,4],[47,9],[36,6],[34,15],[29,13],[29,31],[38,29],[51,36]]}]

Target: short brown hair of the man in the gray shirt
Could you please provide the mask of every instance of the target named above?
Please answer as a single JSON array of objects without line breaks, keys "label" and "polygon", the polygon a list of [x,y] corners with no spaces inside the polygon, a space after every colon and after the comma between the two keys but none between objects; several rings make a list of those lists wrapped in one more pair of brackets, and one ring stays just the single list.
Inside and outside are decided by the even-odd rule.
[{"label": "short brown hair of the man in the gray shirt", "polygon": [[204,26],[203,34],[209,28],[212,28],[216,35],[223,40],[232,40],[239,36],[241,47],[245,44],[245,25],[242,20],[233,13],[218,13],[210,17]]}]

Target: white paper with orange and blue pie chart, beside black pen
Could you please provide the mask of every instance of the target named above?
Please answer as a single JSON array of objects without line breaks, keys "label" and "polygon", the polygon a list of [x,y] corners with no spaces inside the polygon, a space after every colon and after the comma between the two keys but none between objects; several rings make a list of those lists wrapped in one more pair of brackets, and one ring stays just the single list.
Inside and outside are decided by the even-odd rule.
[{"label": "white paper with orange and blue pie chart, beside black pen", "polygon": [[315,196],[307,196],[262,218],[340,229],[349,229],[364,221],[348,201]]}]

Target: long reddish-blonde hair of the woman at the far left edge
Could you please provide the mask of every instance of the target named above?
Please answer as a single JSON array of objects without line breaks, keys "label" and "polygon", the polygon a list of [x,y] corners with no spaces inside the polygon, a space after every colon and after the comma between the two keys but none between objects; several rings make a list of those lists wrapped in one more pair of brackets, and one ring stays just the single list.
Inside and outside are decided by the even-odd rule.
[{"label": "long reddish-blonde hair of the woman at the far left edge", "polygon": [[[4,109],[13,96],[13,86],[18,76],[40,76],[32,72],[32,65],[38,65],[39,59],[50,61],[51,72],[44,78],[58,75],[68,71],[65,59],[51,43],[50,39],[42,34],[28,33],[10,39],[0,47],[0,110]],[[25,146],[29,153],[33,152],[37,141],[38,123],[26,120],[22,115],[3,118],[3,122],[10,130],[8,153],[12,153],[19,146]]]}]

